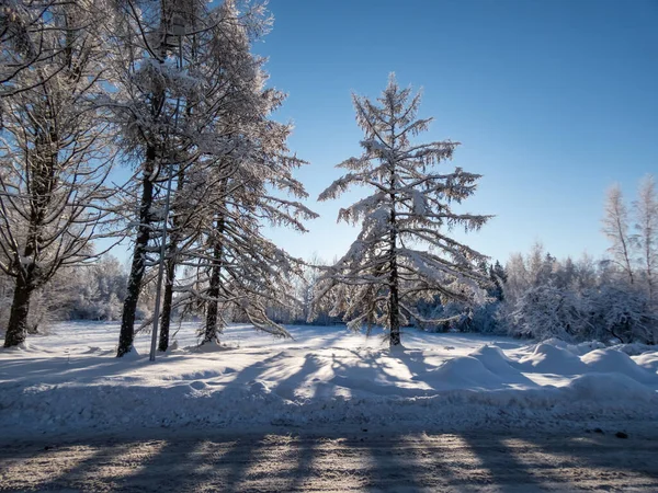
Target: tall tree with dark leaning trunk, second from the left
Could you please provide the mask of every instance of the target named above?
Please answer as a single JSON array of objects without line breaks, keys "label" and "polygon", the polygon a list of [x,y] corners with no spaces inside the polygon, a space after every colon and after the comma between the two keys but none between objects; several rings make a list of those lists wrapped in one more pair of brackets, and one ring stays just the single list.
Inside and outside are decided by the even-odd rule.
[{"label": "tall tree with dark leaning trunk, second from the left", "polygon": [[[124,157],[135,174],[122,207],[134,231],[135,246],[124,300],[117,356],[132,351],[139,294],[148,255],[167,218],[159,199],[168,183],[193,162],[196,138],[184,122],[185,101],[193,99],[197,80],[182,70],[183,41],[194,37],[198,0],[120,0],[116,22],[107,31],[115,91],[107,103],[122,128]],[[137,203],[137,207],[132,207]]]}]

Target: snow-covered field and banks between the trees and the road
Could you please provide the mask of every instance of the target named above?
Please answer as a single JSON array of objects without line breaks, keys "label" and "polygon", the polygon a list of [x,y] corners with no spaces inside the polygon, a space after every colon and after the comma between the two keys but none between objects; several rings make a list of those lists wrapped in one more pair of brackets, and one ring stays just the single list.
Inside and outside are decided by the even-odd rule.
[{"label": "snow-covered field and banks between the trees and the road", "polygon": [[[294,340],[248,325],[226,347],[196,351],[192,325],[148,360],[115,358],[118,326],[56,325],[0,349],[0,435],[143,427],[483,429],[601,426],[658,419],[658,352],[569,346],[408,330],[404,349],[343,326],[292,326]],[[623,351],[620,351],[623,349]],[[640,353],[640,354],[636,354]]]}]

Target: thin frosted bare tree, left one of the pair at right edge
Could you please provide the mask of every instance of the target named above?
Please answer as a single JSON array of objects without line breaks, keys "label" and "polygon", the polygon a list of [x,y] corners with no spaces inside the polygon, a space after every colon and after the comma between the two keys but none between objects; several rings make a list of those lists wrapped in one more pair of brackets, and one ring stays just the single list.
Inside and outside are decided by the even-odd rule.
[{"label": "thin frosted bare tree, left one of the pair at right edge", "polygon": [[619,184],[615,184],[608,191],[605,199],[603,233],[612,243],[608,251],[612,254],[613,262],[625,273],[628,283],[633,284],[633,237],[628,228],[628,210],[624,204],[622,190]]}]

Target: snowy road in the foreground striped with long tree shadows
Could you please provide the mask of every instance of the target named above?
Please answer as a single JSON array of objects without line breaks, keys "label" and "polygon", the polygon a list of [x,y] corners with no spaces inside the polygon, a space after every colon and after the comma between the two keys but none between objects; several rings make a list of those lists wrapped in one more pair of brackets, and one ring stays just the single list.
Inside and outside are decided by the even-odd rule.
[{"label": "snowy road in the foreground striped with long tree shadows", "polygon": [[633,434],[148,434],[1,446],[0,491],[658,491]]}]

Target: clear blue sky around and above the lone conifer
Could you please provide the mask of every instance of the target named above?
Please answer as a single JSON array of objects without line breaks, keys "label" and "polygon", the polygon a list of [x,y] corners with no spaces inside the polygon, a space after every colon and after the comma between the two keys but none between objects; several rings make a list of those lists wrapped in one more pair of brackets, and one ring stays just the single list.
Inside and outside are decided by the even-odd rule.
[{"label": "clear blue sky around and above the lone conifer", "polygon": [[[316,203],[360,152],[352,92],[375,98],[395,71],[423,89],[423,140],[462,142],[455,159],[480,173],[465,209],[496,215],[457,234],[502,262],[541,241],[552,254],[604,253],[603,199],[614,182],[633,198],[658,174],[657,0],[271,0],[272,32],[254,46],[288,99],[297,177],[321,215],[307,234],[270,231],[291,253],[326,260],[356,230],[337,225],[358,197]],[[447,168],[446,168],[447,170]],[[116,251],[117,256],[124,253]]]}]

